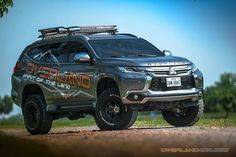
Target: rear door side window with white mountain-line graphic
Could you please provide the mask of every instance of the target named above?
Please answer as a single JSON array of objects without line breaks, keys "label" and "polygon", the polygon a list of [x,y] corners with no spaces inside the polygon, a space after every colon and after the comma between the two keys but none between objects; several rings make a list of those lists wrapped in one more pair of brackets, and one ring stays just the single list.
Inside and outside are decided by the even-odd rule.
[{"label": "rear door side window with white mountain-line graphic", "polygon": [[64,51],[65,44],[56,43],[49,45],[49,48],[45,53],[46,62],[48,63],[65,63],[67,62],[67,55]]}]

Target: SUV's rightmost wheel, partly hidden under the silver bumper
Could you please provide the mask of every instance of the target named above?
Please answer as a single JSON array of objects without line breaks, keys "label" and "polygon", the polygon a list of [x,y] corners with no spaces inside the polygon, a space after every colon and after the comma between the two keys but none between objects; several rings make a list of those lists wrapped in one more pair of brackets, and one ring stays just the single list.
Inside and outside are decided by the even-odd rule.
[{"label": "SUV's rightmost wheel, partly hidden under the silver bumper", "polygon": [[202,100],[195,103],[196,105],[191,107],[177,106],[175,111],[162,111],[162,116],[173,126],[192,126],[201,118],[204,109]]}]

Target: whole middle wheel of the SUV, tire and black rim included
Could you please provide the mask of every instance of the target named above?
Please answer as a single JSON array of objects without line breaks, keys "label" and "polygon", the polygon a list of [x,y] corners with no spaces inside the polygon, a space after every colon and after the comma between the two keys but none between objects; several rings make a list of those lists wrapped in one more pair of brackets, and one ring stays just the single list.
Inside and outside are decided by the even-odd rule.
[{"label": "whole middle wheel of the SUV, tire and black rim included", "polygon": [[138,112],[122,103],[116,89],[105,90],[97,100],[95,121],[101,130],[127,129],[135,122]]}]

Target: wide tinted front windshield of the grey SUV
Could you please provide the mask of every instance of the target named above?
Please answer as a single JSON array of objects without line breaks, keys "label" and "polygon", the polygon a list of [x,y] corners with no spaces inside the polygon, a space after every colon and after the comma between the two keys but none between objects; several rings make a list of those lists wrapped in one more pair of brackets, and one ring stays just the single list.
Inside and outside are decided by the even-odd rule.
[{"label": "wide tinted front windshield of the grey SUV", "polygon": [[89,41],[99,57],[155,57],[164,54],[144,39],[99,39]]}]

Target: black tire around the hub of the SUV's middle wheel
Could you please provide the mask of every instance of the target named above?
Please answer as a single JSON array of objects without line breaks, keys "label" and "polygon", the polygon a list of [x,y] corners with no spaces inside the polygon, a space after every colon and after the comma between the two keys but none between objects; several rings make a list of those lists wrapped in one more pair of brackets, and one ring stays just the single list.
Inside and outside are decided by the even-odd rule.
[{"label": "black tire around the hub of the SUV's middle wheel", "polygon": [[[105,116],[106,113],[104,111],[104,108],[106,108],[106,105],[109,103],[109,101],[114,99],[120,101],[121,108],[123,108],[121,109],[122,117],[120,117],[120,119],[118,119],[115,122],[110,122]],[[134,124],[137,115],[138,115],[137,111],[132,110],[129,106],[121,102],[119,92],[117,89],[114,88],[107,89],[104,92],[102,92],[98,97],[95,108],[95,121],[97,126],[101,130],[128,129],[130,126]]]}]

